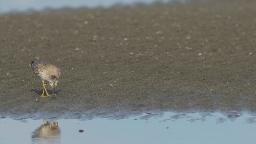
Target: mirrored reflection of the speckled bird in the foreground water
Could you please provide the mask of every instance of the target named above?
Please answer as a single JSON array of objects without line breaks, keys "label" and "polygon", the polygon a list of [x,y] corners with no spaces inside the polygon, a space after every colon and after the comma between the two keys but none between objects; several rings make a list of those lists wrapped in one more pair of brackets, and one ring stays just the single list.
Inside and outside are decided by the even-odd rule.
[{"label": "mirrored reflection of the speckled bird in the foreground water", "polygon": [[58,122],[49,122],[43,119],[43,124],[32,133],[33,143],[47,143],[58,144],[60,143],[61,130]]}]

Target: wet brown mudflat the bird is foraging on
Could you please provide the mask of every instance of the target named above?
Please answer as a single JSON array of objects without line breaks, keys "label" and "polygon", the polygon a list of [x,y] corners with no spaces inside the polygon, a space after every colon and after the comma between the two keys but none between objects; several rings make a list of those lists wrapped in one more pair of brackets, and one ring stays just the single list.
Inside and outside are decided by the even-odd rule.
[{"label": "wet brown mudflat the bird is foraging on", "polygon": [[[255,113],[255,5],[217,0],[1,15],[1,116]],[[30,60],[61,67],[56,98],[40,98]]]}]

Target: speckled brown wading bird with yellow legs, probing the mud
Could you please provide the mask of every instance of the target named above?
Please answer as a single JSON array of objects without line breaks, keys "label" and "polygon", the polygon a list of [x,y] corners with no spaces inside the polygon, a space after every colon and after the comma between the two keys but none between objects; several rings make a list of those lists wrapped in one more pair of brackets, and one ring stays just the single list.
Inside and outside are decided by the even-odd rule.
[{"label": "speckled brown wading bird with yellow legs, probing the mud", "polygon": [[[45,97],[51,96],[46,91],[45,81],[49,81],[49,84],[53,89],[52,96],[55,97],[55,87],[58,85],[58,79],[61,74],[61,68],[58,67],[53,62],[48,62],[48,61],[40,61],[40,62],[31,61],[29,65],[32,68],[34,74],[36,76],[39,76],[43,81],[43,94],[40,97],[45,98]],[[46,96],[44,95],[44,92],[46,92]]]}]

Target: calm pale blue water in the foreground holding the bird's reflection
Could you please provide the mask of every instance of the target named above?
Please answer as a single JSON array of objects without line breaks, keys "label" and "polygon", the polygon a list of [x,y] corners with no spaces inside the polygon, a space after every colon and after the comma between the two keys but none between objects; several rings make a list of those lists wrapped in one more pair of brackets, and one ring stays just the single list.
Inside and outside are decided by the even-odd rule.
[{"label": "calm pale blue water in the foreground holding the bird's reflection", "polygon": [[[145,113],[127,119],[0,119],[1,144],[253,144],[256,117],[246,113]],[[56,126],[56,122],[58,126]],[[55,126],[53,125],[55,124]],[[52,126],[52,127],[50,127]],[[79,132],[80,131],[80,132]]]}]

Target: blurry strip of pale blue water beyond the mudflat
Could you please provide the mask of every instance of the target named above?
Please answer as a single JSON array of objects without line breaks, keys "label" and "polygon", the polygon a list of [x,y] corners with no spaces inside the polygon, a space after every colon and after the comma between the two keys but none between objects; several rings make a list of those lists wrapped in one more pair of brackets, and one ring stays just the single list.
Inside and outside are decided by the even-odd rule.
[{"label": "blurry strip of pale blue water beyond the mudflat", "polygon": [[[30,10],[42,11],[44,9],[60,9],[62,7],[79,8],[79,7],[111,7],[113,5],[132,5],[135,3],[150,4],[156,1],[168,2],[169,0],[1,0],[0,13],[7,12],[25,12]],[[184,1],[184,0],[179,0]]]}]

